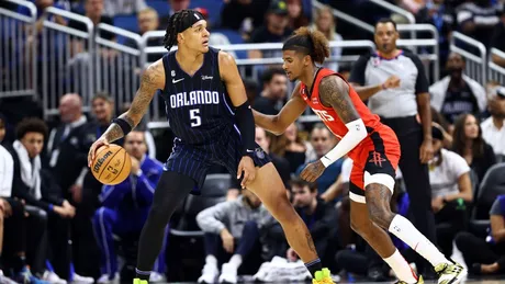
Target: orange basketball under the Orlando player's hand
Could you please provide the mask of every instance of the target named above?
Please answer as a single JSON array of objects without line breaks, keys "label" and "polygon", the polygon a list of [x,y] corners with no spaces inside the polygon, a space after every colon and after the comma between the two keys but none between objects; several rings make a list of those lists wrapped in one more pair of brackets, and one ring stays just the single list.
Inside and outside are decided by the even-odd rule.
[{"label": "orange basketball under the Orlando player's hand", "polygon": [[94,178],[106,185],[123,182],[132,169],[132,158],[123,147],[115,144],[98,148],[91,164]]}]

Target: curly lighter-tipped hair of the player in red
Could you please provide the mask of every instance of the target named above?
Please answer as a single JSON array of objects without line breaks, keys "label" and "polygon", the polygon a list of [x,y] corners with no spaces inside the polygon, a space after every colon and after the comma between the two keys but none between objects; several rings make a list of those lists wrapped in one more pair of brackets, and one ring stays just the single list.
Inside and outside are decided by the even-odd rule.
[{"label": "curly lighter-tipped hair of the player in red", "polygon": [[285,41],[282,50],[304,50],[317,64],[323,64],[329,57],[329,43],[326,36],[319,32],[302,26]]}]

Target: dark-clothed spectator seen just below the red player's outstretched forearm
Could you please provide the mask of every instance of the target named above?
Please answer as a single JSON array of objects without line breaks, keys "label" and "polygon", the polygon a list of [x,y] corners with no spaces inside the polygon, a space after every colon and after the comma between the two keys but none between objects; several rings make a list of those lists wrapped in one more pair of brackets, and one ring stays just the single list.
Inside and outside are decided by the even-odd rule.
[{"label": "dark-clothed spectator seen just below the red player's outstretched forearm", "polygon": [[274,136],[271,144],[271,152],[283,157],[290,163],[290,173],[296,172],[296,169],[306,161],[308,147],[299,135],[298,125],[292,123],[280,136]]}]

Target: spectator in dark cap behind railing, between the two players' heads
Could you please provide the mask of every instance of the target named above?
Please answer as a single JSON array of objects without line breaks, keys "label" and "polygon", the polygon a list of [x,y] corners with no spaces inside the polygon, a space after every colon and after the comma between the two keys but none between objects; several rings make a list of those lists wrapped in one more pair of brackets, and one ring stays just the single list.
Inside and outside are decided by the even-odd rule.
[{"label": "spectator in dark cap behind railing, between the two players' heads", "polygon": [[[265,16],[266,24],[257,29],[250,36],[250,43],[282,43],[291,33],[288,27],[288,4],[281,0],[272,0]],[[280,57],[279,52],[249,50],[249,58]]]}]

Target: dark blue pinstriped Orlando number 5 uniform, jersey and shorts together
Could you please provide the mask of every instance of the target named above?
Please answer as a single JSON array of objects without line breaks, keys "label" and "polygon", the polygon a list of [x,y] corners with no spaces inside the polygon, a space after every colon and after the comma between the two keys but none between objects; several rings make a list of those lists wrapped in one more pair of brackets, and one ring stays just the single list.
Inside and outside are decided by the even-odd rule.
[{"label": "dark blue pinstriped Orlando number 5 uniform, jersey and shorts together", "polygon": [[[189,76],[179,66],[176,53],[164,56],[167,118],[176,135],[166,171],[191,177],[201,189],[212,164],[224,166],[233,177],[243,157],[240,132],[235,107],[220,77],[218,50],[209,48],[202,67]],[[270,161],[256,144],[255,166]],[[192,193],[199,193],[194,189]]]}]

